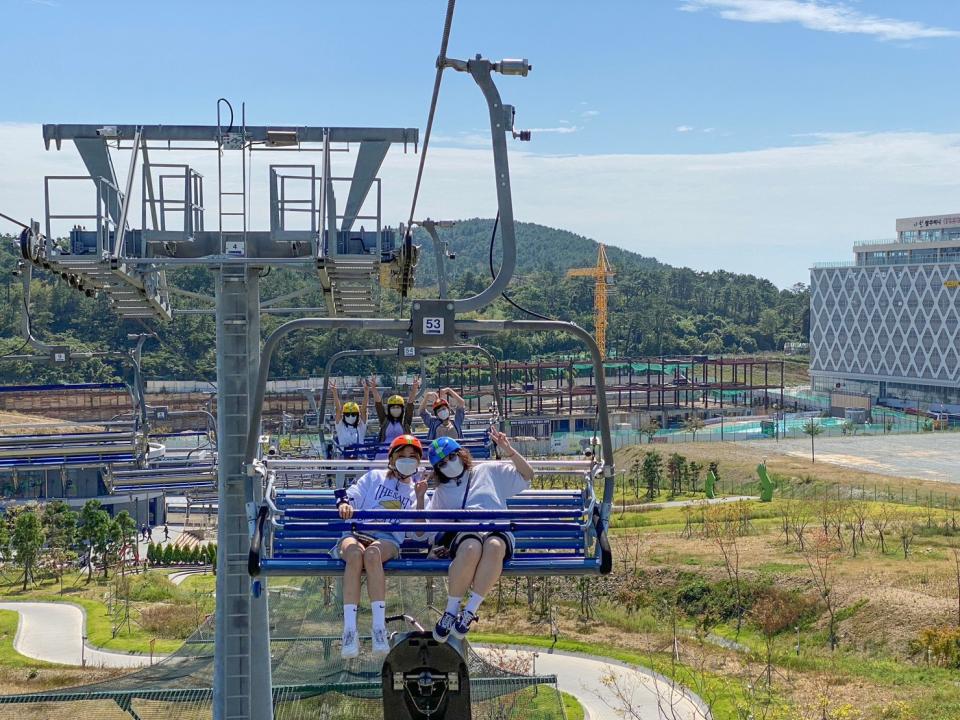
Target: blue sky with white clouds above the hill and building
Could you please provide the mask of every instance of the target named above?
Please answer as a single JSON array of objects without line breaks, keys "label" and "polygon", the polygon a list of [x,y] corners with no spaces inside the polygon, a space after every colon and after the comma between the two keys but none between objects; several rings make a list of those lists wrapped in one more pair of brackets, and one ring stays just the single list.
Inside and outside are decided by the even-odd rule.
[{"label": "blue sky with white clouds above the hill and building", "polygon": [[[224,96],[250,124],[422,131],[445,9],[0,0],[0,212],[41,215],[43,175],[81,170],[43,149],[45,122],[213,124]],[[459,0],[448,55],[478,52],[533,64],[496,78],[533,130],[510,143],[519,220],[787,287],[897,217],[960,211],[960,3]],[[495,214],[486,122],[445,73],[418,215]],[[417,160],[384,165],[389,224]]]}]

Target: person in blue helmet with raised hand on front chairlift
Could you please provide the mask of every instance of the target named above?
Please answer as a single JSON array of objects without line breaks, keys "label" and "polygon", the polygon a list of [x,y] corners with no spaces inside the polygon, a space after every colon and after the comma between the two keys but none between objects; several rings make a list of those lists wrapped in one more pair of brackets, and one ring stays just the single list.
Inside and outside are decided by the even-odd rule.
[{"label": "person in blue helmet with raised hand on front chairlift", "polygon": [[[451,437],[439,437],[428,446],[428,460],[437,487],[427,510],[505,510],[507,499],[530,487],[533,468],[496,429],[490,438],[506,462],[475,464],[470,451]],[[450,635],[463,638],[477,619],[484,596],[497,584],[503,562],[513,554],[514,540],[509,532],[442,533],[434,538],[433,553],[450,557],[447,573],[447,607],[433,629],[438,642]],[[467,590],[470,597],[461,609]]]}]

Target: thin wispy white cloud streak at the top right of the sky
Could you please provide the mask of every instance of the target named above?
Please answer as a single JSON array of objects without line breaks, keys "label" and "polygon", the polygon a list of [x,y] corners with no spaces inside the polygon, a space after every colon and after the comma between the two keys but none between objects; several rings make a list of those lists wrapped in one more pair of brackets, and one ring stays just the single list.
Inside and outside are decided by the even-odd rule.
[{"label": "thin wispy white cloud streak at the top right of the sky", "polygon": [[958,37],[960,31],[913,20],[868,15],[849,5],[819,0],[682,0],[681,10],[712,10],[726,20],[798,23],[808,30],[872,35],[881,40]]}]

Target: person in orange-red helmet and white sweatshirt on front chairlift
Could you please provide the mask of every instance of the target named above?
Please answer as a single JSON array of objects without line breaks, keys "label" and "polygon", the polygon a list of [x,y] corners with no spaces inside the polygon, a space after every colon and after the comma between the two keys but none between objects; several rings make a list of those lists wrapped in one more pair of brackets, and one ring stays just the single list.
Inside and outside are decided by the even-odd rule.
[{"label": "person in orange-red helmet and white sweatshirt on front chairlift", "polygon": [[[423,446],[413,435],[400,435],[390,443],[386,469],[374,469],[360,476],[345,491],[337,491],[340,518],[349,520],[358,510],[423,509],[427,483],[419,475]],[[360,576],[367,573],[367,594],[373,614],[371,637],[374,655],[390,651],[387,641],[387,581],[383,564],[400,555],[403,532],[346,532],[334,555],[344,561],[343,638],[340,654],[355,658],[360,654],[357,634],[357,605],[360,602]]]}]

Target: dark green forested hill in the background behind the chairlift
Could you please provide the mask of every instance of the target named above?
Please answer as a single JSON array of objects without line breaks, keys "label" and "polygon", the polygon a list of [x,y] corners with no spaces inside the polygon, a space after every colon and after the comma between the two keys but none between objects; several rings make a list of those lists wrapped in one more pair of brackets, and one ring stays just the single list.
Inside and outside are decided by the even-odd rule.
[{"label": "dark green forested hill in the background behind the chairlift", "polygon": [[[473,294],[489,283],[488,253],[492,219],[472,219],[452,228],[442,228],[442,237],[456,253],[450,263],[451,295]],[[2,237],[2,236],[0,236]],[[23,301],[19,278],[11,275],[18,249],[13,237],[0,243],[0,355],[17,352]],[[572,267],[596,264],[597,244],[579,235],[532,223],[518,223],[517,273],[509,295],[520,305],[550,317],[573,320],[593,330],[593,282],[567,278]],[[417,268],[415,293],[432,294],[436,283],[434,252],[429,238],[417,237],[422,253]],[[495,267],[499,267],[499,238],[495,244]],[[608,246],[608,258],[616,273],[609,296],[607,347],[611,354],[659,355],[688,353],[756,352],[782,348],[791,340],[809,334],[809,294],[805,287],[778,290],[772,283],[752,275],[726,271],[697,272],[674,268],[653,258]],[[194,292],[212,293],[211,275],[187,268],[169,273],[171,284]],[[289,269],[274,269],[261,283],[263,298],[279,296],[304,286],[316,286],[315,276]],[[435,291],[434,291],[435,292]],[[396,316],[396,299],[385,293],[384,315]],[[303,305],[322,305],[319,292],[298,299]],[[176,307],[196,307],[191,299],[177,297]],[[36,272],[32,285],[31,324],[34,334],[48,342],[61,342],[75,350],[117,350],[130,345],[128,333],[144,331],[145,324],[121,322],[104,298],[87,298],[66,283]],[[485,309],[482,317],[525,317],[500,300]],[[264,333],[288,318],[265,316]],[[144,372],[148,378],[212,379],[215,376],[214,326],[208,315],[177,316],[174,321],[149,329],[158,340],[144,348]],[[392,345],[370,333],[301,333],[285,343],[271,368],[273,377],[308,377],[322,373],[327,358],[344,348]],[[558,334],[507,333],[484,340],[500,357],[524,360],[552,353],[582,352],[578,343]],[[393,361],[379,365],[361,359],[350,372],[368,372],[379,367],[392,371]],[[0,361],[0,383],[98,381],[118,376],[119,364],[102,360],[72,362],[67,367]]]}]

